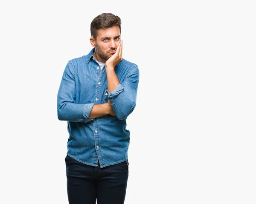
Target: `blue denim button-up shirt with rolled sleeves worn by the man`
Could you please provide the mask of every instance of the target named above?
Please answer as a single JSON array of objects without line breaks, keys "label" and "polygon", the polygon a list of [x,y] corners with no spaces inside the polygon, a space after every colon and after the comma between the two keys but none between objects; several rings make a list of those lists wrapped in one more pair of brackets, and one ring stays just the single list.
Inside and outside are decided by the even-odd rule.
[{"label": "blue denim button-up shirt with rolled sleeves worn by the man", "polygon": [[[128,162],[130,132],[126,118],[136,105],[139,69],[123,59],[115,67],[119,85],[111,93],[105,67],[101,70],[93,57],[94,48],[86,56],[67,63],[58,90],[58,119],[67,121],[69,138],[67,155],[81,163],[107,167]],[[116,114],[89,119],[94,104],[107,103]]]}]

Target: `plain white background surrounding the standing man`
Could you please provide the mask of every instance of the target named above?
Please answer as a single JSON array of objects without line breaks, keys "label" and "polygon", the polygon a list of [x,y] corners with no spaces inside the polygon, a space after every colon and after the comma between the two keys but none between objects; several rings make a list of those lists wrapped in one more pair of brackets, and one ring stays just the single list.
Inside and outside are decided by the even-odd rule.
[{"label": "plain white background surrounding the standing man", "polygon": [[0,203],[68,203],[57,92],[103,12],[140,69],[125,204],[256,203],[254,1],[167,2],[1,3]]}]

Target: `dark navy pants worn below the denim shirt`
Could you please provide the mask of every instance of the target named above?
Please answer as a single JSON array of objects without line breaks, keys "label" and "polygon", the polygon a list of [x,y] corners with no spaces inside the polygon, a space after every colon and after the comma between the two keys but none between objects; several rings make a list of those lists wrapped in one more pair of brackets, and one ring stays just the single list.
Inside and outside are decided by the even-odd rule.
[{"label": "dark navy pants worn below the denim shirt", "polygon": [[67,156],[67,195],[69,204],[123,204],[128,180],[126,161],[100,168]]}]

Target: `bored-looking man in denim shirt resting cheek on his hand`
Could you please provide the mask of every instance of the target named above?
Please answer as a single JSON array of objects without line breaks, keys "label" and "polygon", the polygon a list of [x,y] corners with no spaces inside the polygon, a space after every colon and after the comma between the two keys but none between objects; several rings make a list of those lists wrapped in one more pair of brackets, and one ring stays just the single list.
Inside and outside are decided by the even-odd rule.
[{"label": "bored-looking man in denim shirt resting cheek on his hand", "polygon": [[70,204],[123,204],[139,69],[122,59],[121,20],[111,13],[90,25],[88,55],[67,63],[58,90],[58,119],[68,121],[66,172]]}]

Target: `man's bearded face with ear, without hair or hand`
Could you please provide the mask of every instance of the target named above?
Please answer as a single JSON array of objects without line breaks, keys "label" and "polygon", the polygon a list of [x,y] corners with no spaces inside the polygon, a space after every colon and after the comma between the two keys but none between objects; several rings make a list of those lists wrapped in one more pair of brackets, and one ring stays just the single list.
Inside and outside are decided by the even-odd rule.
[{"label": "man's bearded face with ear, without hair or hand", "polygon": [[96,50],[93,53],[94,57],[99,62],[106,62],[115,53],[119,43],[120,29],[118,26],[99,29],[96,40],[93,38],[93,43],[91,40],[91,44]]}]

